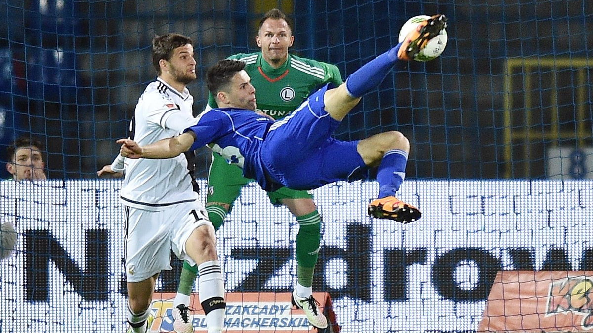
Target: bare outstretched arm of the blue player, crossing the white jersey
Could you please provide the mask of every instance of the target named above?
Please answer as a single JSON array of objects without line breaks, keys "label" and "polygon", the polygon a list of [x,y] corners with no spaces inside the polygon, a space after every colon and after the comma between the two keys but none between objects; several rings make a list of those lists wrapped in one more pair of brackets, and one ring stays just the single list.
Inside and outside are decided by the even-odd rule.
[{"label": "bare outstretched arm of the blue player, crossing the white jersey", "polygon": [[193,132],[187,132],[177,137],[158,140],[146,146],[139,146],[138,143],[131,139],[119,139],[117,143],[122,144],[119,152],[124,157],[133,159],[165,159],[173,158],[189,151],[193,141]]}]

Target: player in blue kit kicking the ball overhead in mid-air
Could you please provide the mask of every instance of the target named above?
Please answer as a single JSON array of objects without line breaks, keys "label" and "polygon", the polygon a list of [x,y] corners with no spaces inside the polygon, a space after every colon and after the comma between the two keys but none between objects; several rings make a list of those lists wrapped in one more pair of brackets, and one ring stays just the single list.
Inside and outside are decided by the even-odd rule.
[{"label": "player in blue kit kicking the ball overhead in mid-air", "polygon": [[380,219],[413,222],[420,211],[395,197],[404,178],[410,143],[400,132],[379,133],[363,140],[341,141],[331,137],[361,96],[378,87],[401,60],[412,60],[446,27],[444,15],[434,15],[411,31],[403,43],[352,73],[337,88],[324,86],[291,114],[271,120],[256,113],[256,91],[243,70],[244,63],[221,60],[207,73],[209,91],[218,108],[197,118],[180,136],[139,146],[130,139],[120,153],[127,158],[173,158],[208,145],[229,164],[243,168],[266,191],[285,186],[313,190],[339,180],[362,178],[368,167],[378,167],[379,193],[368,212]]}]

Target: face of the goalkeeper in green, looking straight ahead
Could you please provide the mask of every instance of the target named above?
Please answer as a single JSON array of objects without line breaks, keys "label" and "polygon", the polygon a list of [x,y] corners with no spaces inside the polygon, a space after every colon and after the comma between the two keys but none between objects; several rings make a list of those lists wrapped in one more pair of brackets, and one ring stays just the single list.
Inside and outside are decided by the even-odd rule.
[{"label": "face of the goalkeeper in green, looking straight ahead", "polygon": [[288,57],[288,48],[292,46],[294,36],[285,20],[267,19],[256,37],[257,46],[262,49],[263,57],[270,64],[282,63]]}]

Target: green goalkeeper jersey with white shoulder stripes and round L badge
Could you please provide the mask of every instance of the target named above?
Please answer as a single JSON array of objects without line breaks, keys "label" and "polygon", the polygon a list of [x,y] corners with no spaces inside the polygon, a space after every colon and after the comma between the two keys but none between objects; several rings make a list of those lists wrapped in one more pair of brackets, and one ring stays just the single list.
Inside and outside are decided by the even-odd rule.
[{"label": "green goalkeeper jersey with white shoulder stripes and round L badge", "polygon": [[[335,65],[288,55],[288,60],[280,68],[272,68],[263,59],[262,52],[238,53],[228,59],[245,62],[245,71],[256,88],[257,110],[269,114],[274,119],[288,116],[321,86],[332,83],[342,84],[342,75]],[[208,105],[217,107],[212,94]]]}]

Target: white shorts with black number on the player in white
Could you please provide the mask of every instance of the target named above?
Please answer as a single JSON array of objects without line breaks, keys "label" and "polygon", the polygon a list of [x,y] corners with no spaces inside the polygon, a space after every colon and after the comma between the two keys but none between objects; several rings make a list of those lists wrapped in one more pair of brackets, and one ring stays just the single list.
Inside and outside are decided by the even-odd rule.
[{"label": "white shorts with black number on the player in white", "polygon": [[200,200],[180,203],[157,212],[123,206],[126,213],[126,281],[140,282],[171,270],[171,249],[181,260],[196,263],[186,253],[185,243],[193,230],[212,226]]}]

